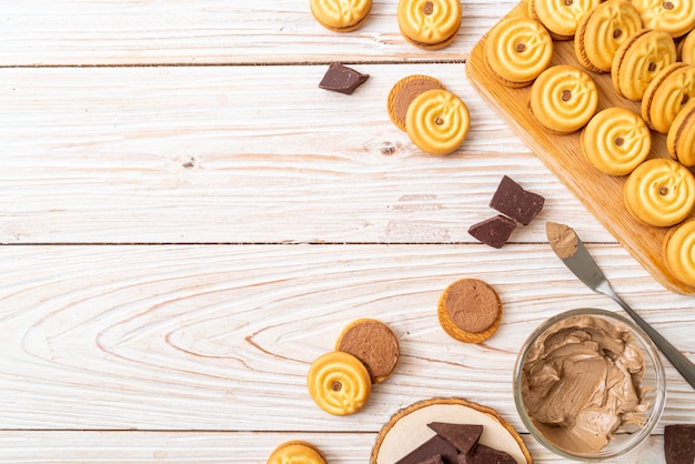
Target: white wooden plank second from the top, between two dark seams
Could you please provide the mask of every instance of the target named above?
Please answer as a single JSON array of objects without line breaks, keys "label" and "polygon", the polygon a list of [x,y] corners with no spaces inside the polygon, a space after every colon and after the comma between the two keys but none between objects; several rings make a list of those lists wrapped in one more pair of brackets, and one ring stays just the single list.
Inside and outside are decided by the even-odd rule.
[{"label": "white wooden plank second from the top, between two dark seams", "polygon": [[[470,243],[504,174],[547,199],[513,241],[545,241],[544,219],[614,240],[463,64],[355,68],[371,78],[352,95],[318,88],[325,65],[0,69],[0,241]],[[424,154],[391,123],[413,73],[467,102],[459,152]]]}]

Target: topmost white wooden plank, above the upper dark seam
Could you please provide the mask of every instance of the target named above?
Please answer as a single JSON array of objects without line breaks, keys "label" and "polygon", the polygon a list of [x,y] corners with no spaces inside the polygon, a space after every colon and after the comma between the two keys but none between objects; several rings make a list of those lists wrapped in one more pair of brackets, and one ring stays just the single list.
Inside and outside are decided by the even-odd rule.
[{"label": "topmost white wooden plank, above the upper dark seam", "polygon": [[396,0],[361,29],[332,32],[309,0],[23,0],[0,2],[1,64],[236,64],[462,61],[516,4],[464,0],[459,36],[435,52],[405,42]]}]

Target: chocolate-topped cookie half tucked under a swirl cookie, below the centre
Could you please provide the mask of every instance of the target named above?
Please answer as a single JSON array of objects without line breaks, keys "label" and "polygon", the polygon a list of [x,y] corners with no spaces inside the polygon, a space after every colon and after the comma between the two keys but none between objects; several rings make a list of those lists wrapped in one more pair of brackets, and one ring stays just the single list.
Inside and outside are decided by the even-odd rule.
[{"label": "chocolate-topped cookie half tucked under a swirl cookie, below the centre", "polygon": [[383,322],[357,319],[348,324],[335,342],[335,351],[350,353],[364,364],[372,384],[385,381],[399,362],[399,339]]}]

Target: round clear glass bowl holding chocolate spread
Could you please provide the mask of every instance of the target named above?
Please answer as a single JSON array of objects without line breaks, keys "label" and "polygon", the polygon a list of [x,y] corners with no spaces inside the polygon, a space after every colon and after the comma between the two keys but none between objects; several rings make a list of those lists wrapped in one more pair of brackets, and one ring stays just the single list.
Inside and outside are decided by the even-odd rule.
[{"label": "round clear glass bowl holding chocolate spread", "polygon": [[[581,319],[577,319],[581,317]],[[593,324],[598,324],[600,326],[616,329],[621,333],[626,333],[628,335],[625,336],[625,340],[632,340],[632,342],[626,345],[623,343],[618,343],[617,345],[605,340],[614,340],[614,337],[605,339],[602,342],[593,345],[594,341],[598,339],[598,335],[594,334],[590,336],[588,340],[586,336],[586,331],[578,330],[576,332],[572,332],[568,330],[570,326],[575,326],[577,321],[592,321]],[[612,437],[608,440],[607,444],[603,447],[596,450],[597,446],[594,446],[594,450],[588,450],[586,445],[583,444],[582,440],[577,438],[577,435],[565,435],[567,425],[572,427],[573,423],[577,417],[582,417],[581,421],[585,422],[596,422],[594,421],[596,417],[604,418],[606,415],[603,414],[603,408],[592,407],[592,408],[582,408],[578,406],[571,406],[581,404],[580,401],[572,401],[571,399],[576,392],[590,392],[592,387],[588,385],[603,385],[597,377],[594,377],[591,374],[592,369],[588,369],[590,364],[574,364],[574,362],[561,363],[561,357],[563,354],[567,354],[563,351],[555,351],[554,355],[550,357],[541,356],[538,354],[540,346],[550,346],[551,351],[558,349],[565,342],[561,342],[560,337],[556,335],[554,337],[550,337],[548,335],[552,332],[556,332],[557,330],[563,330],[563,335],[567,335],[573,342],[583,341],[586,346],[603,346],[595,349],[595,353],[601,353],[602,356],[605,356],[610,361],[604,361],[606,365],[620,366],[620,367],[608,367],[608,369],[620,369],[620,372],[627,372],[632,367],[624,371],[625,366],[633,365],[634,362],[625,361],[628,360],[629,356],[625,355],[616,355],[614,352],[620,351],[622,346],[634,346],[639,352],[642,352],[644,357],[644,375],[639,383],[639,389],[637,390],[637,396],[641,396],[639,400],[639,412],[634,415],[627,415],[627,417],[636,418],[637,424],[632,423],[633,421],[627,421],[627,423],[622,424],[615,432],[612,434]],[[612,330],[611,329],[611,330]],[[571,333],[572,332],[572,333]],[[607,344],[607,345],[606,345]],[[611,350],[611,347],[613,350]],[[629,353],[629,350],[626,352]],[[572,360],[580,360],[582,355],[572,356]],[[553,357],[553,362],[550,359]],[[596,360],[594,355],[590,356],[593,360]],[[600,359],[601,356],[598,356]],[[536,369],[533,370],[533,375],[536,377],[533,389],[530,389],[530,377],[532,376],[532,371],[524,366],[526,363],[533,363],[537,360],[543,360],[540,364],[536,365]],[[582,360],[584,362],[584,360]],[[601,361],[596,361],[597,364],[592,364],[593,366],[600,367]],[[544,365],[543,369],[541,366]],[[561,367],[562,365],[562,367]],[[595,372],[602,372],[600,369],[596,369]],[[615,371],[613,371],[615,372]],[[626,374],[623,379],[627,379],[629,381],[621,381],[618,382],[622,385],[622,391],[632,391],[635,389],[632,387],[632,379],[634,376]],[[565,381],[564,384],[561,383],[560,379]],[[541,381],[544,380],[544,381]],[[578,382],[582,382],[581,384]],[[560,386],[564,385],[564,386]],[[625,389],[625,385],[628,385],[628,389]],[[530,393],[533,391],[533,393]],[[538,399],[544,397],[544,393],[547,393],[545,400],[547,401],[538,401]],[[586,394],[577,394],[576,397],[592,397],[592,404],[601,403],[602,401],[610,402],[614,404],[615,397],[611,397],[608,395],[608,400],[601,400],[602,396],[605,395],[593,395],[588,396]],[[598,397],[600,400],[596,400]],[[563,400],[568,401],[567,403],[563,402]],[[522,422],[533,435],[534,438],[547,450],[558,454],[563,457],[567,457],[576,461],[585,461],[585,462],[597,462],[604,461],[611,457],[616,457],[628,453],[634,450],[637,445],[639,445],[646,437],[649,436],[649,433],[658,422],[662,412],[664,410],[664,403],[666,402],[666,379],[664,375],[664,366],[662,364],[659,354],[657,352],[656,346],[652,342],[652,340],[639,329],[637,327],[631,320],[626,317],[604,310],[596,309],[580,309],[572,310],[561,314],[557,314],[550,320],[542,323],[533,333],[526,339],[524,342],[518,357],[516,360],[516,364],[514,366],[514,401],[516,403],[516,410],[522,418]],[[552,420],[547,420],[547,422],[553,422],[557,420],[561,425],[547,425],[535,418],[532,418],[528,410],[525,405],[525,401],[528,401],[530,404],[535,402],[538,406],[538,411],[542,411],[535,414],[536,416],[543,416],[547,420],[547,417],[552,417]],[[585,402],[584,402],[585,403]],[[562,406],[558,406],[562,404]],[[532,406],[533,407],[533,406]],[[581,414],[573,414],[577,411],[577,407],[582,410]],[[598,412],[597,412],[598,411]],[[561,417],[561,418],[558,418]],[[577,421],[578,422],[578,421]],[[576,428],[575,428],[576,430]],[[585,435],[586,436],[586,435]],[[605,434],[604,434],[605,436]],[[593,438],[591,438],[593,440]]]}]

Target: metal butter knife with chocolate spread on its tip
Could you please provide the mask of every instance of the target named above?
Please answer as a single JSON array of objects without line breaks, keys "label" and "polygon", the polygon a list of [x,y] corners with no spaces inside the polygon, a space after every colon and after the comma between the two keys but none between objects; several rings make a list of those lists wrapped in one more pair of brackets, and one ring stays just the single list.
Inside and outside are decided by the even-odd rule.
[{"label": "metal butter knife with chocolate spread on its tip", "polygon": [[654,344],[664,353],[664,356],[683,375],[687,383],[695,389],[695,364],[683,353],[676,350],[666,339],[651,326],[639,314],[621,299],[603,275],[588,250],[582,243],[576,232],[564,224],[548,222],[546,233],[551,246],[557,258],[576,275],[586,286],[596,293],[604,294],[617,304],[635,321],[635,323],[654,341]]}]

